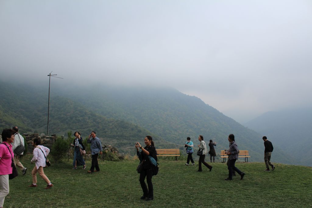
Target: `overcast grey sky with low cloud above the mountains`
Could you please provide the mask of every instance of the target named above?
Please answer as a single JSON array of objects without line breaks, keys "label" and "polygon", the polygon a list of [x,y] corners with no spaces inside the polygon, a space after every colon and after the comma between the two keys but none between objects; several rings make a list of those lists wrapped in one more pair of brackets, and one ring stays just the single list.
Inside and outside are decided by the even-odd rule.
[{"label": "overcast grey sky with low cloud above the mountains", "polygon": [[310,0],[0,1],[2,79],[166,85],[241,123],[311,106],[311,37]]}]

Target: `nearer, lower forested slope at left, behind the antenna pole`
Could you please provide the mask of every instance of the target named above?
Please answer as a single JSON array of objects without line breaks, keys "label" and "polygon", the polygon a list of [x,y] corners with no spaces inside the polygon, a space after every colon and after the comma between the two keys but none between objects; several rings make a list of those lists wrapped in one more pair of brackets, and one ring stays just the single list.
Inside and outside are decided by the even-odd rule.
[{"label": "nearer, lower forested slope at left, behind the antenna pole", "polygon": [[[14,93],[13,93],[14,92]],[[0,84],[0,128],[18,125],[23,132],[47,132],[47,96],[41,89],[32,87],[16,88]],[[141,142],[146,135],[151,135],[158,148],[179,148],[164,141],[159,136],[133,123],[118,119],[108,119],[86,109],[78,102],[60,96],[52,96],[50,102],[49,133],[65,134],[67,131],[79,131],[85,138],[95,131],[104,143],[112,144],[121,152],[134,152],[135,142]]]}]

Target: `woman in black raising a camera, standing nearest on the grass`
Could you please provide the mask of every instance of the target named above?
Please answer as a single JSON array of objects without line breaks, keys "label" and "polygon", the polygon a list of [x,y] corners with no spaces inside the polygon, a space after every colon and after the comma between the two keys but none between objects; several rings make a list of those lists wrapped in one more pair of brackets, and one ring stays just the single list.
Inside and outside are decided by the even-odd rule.
[{"label": "woman in black raising a camera, standing nearest on the grass", "polygon": [[[153,193],[153,183],[152,183],[152,176],[153,176],[153,164],[149,158],[152,157],[157,162],[157,152],[154,147],[154,142],[151,136],[146,136],[144,138],[145,147],[143,148],[140,143],[135,144],[135,148],[137,150],[137,156],[139,157],[140,161],[143,161],[143,169],[140,172],[140,184],[143,190],[143,196],[141,197],[142,200],[146,199],[153,200],[154,193]],[[139,148],[142,150],[139,152]],[[148,185],[148,189],[145,184],[145,177]]]}]

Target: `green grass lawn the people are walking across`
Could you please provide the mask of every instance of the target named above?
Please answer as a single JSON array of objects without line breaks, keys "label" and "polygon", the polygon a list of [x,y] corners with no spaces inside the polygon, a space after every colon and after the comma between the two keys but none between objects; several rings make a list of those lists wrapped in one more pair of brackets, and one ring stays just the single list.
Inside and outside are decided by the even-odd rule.
[{"label": "green grass lawn the people are walking across", "polygon": [[[32,183],[30,156],[22,158],[28,168],[25,176],[10,180],[10,193],[4,207],[312,207],[312,168],[275,164],[273,172],[264,172],[265,164],[237,163],[246,172],[243,180],[227,178],[225,163],[212,163],[212,172],[203,167],[185,166],[185,161],[159,161],[159,173],[153,177],[154,201],[142,201],[138,161],[100,161],[100,172],[88,174],[72,170],[72,162],[45,168],[54,187],[37,176]],[[86,161],[87,169],[91,161]]]}]

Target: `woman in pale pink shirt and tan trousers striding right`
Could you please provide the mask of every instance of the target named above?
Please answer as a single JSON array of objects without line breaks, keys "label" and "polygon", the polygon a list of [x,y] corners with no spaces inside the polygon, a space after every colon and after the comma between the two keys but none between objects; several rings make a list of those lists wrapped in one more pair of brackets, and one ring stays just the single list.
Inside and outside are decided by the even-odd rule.
[{"label": "woman in pale pink shirt and tan trousers striding right", "polygon": [[46,167],[46,156],[48,156],[50,149],[40,145],[41,139],[35,138],[32,141],[32,146],[34,147],[33,157],[31,163],[35,162],[35,167],[32,170],[32,184],[28,187],[37,187],[37,172],[39,172],[40,177],[46,181],[47,186],[45,189],[49,189],[53,186],[51,181],[46,177],[43,172],[43,167]]}]

